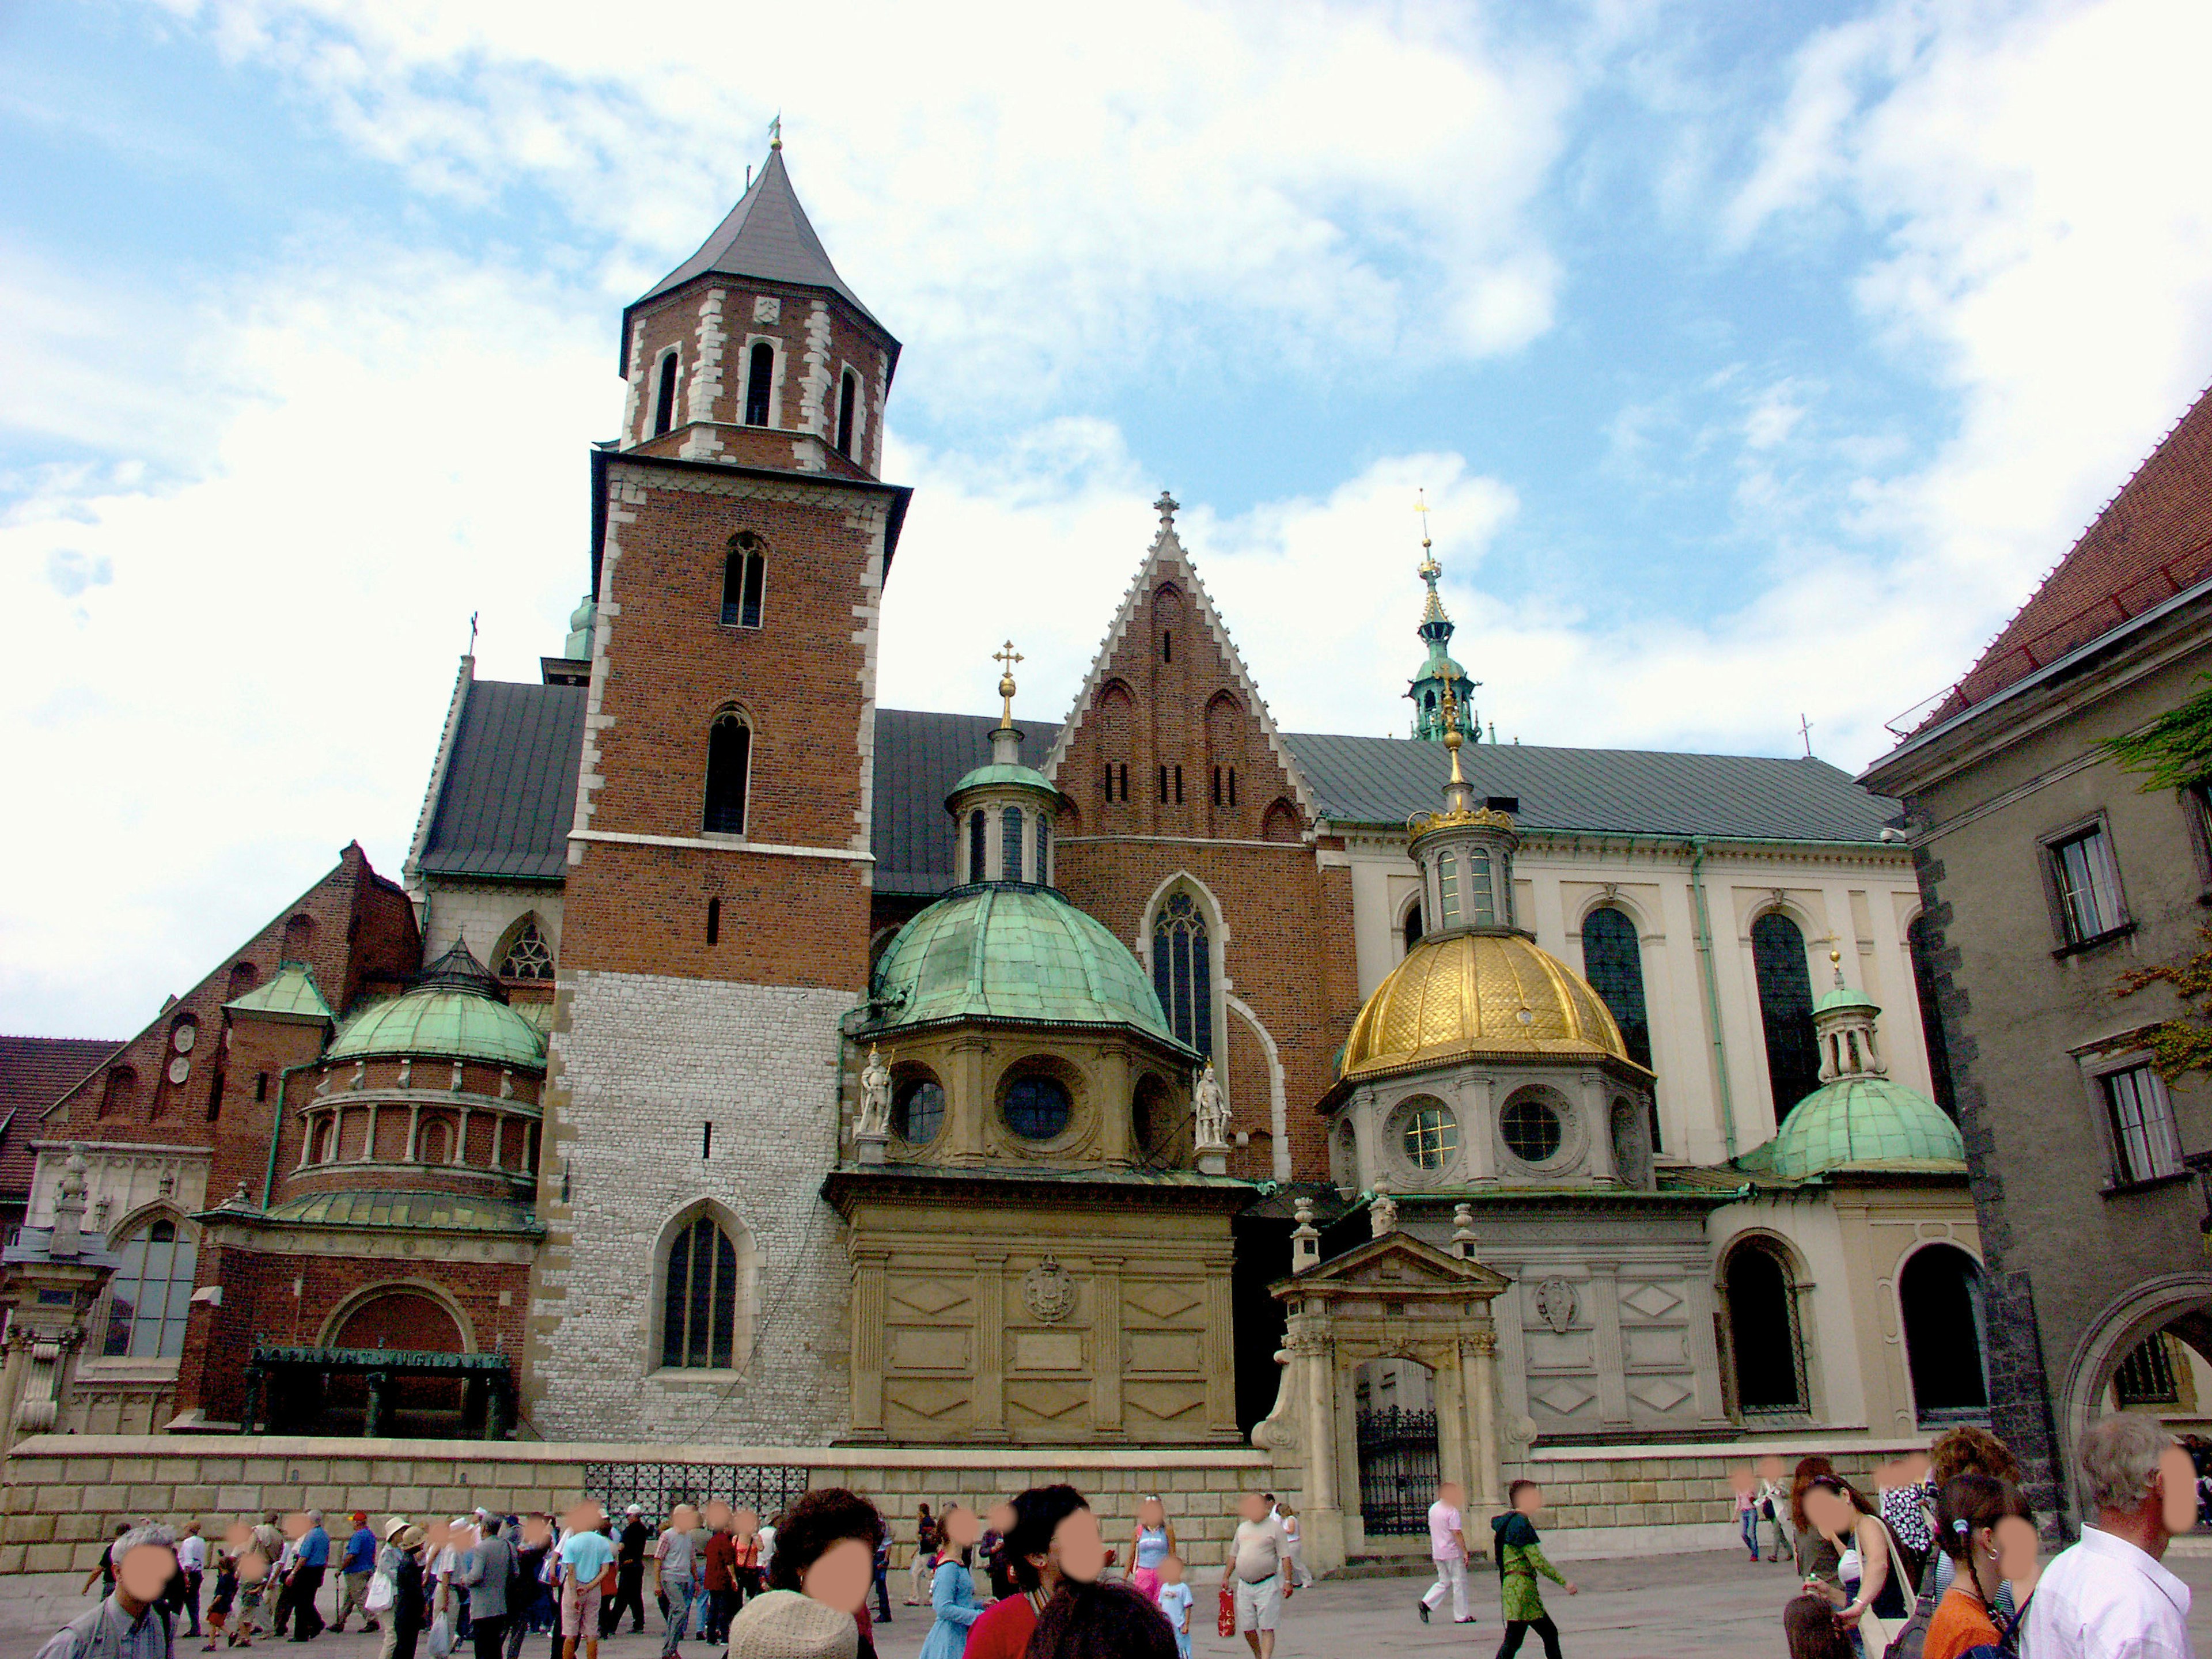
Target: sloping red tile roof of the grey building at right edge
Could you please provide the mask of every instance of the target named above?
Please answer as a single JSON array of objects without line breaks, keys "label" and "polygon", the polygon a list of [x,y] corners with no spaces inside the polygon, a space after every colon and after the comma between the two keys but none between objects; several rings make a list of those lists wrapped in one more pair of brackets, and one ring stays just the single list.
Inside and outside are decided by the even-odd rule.
[{"label": "sloping red tile roof of the grey building at right edge", "polygon": [[2199,394],[1922,726],[1995,697],[2208,575],[2212,389]]}]

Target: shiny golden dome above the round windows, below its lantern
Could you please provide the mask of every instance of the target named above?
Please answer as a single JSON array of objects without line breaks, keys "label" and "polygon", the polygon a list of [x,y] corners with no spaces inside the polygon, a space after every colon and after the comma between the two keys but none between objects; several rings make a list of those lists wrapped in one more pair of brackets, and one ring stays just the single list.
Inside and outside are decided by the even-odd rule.
[{"label": "shiny golden dome above the round windows, below its lantern", "polygon": [[1471,1055],[1628,1060],[1628,1046],[1597,991],[1520,933],[1442,933],[1367,998],[1338,1077]]}]

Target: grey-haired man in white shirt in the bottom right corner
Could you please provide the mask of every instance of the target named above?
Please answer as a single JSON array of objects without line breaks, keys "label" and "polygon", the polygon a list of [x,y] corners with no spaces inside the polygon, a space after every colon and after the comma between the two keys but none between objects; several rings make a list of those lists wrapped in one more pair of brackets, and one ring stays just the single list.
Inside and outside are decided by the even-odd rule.
[{"label": "grey-haired man in white shirt in the bottom right corner", "polygon": [[2194,1659],[2190,1586],[2159,1566],[2197,1522],[2197,1478],[2154,1418],[2119,1411],[2081,1436],[2081,1509],[2097,1515],[2035,1584],[2035,1659]]}]

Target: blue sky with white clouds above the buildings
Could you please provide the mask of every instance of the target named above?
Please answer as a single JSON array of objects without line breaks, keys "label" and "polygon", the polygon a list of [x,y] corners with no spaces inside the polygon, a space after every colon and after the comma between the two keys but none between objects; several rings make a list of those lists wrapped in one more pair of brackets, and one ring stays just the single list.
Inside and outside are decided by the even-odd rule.
[{"label": "blue sky with white clouds above the buildings", "polygon": [[[639,13],[641,15],[641,13]],[[1860,768],[2212,380],[2194,0],[0,0],[0,1031],[398,876],[783,119],[905,343],[880,701],[1064,717],[1170,489],[1287,730]]]}]

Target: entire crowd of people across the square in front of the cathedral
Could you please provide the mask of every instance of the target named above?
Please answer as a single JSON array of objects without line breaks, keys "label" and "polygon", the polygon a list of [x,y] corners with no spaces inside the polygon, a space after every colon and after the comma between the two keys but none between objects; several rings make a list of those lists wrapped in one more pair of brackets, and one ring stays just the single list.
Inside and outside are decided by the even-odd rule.
[{"label": "entire crowd of people across the square in front of the cathedral", "polygon": [[[2077,1447],[2081,1542],[2037,1562],[2037,1524],[2013,1453],[1984,1429],[1951,1429],[1924,1460],[1882,1471],[1869,1498],[1827,1458],[1783,1484],[1739,1486],[1754,1562],[1790,1559],[1798,1593],[1783,1610],[1790,1659],[2190,1659],[2190,1590],[2163,1564],[2172,1535],[2199,1522],[2190,1451],[2154,1418],[2117,1413]],[[1447,1482],[1429,1509],[1436,1582],[1429,1624],[1469,1608],[1464,1493]],[[1528,1632],[1559,1659],[1542,1582],[1575,1595],[1544,1555],[1544,1495],[1515,1480],[1491,1517],[1513,1659]],[[1776,1524],[1776,1553],[1761,1524]],[[1787,1524],[1787,1557],[1781,1526]],[[1298,1517],[1248,1493],[1221,1557],[1217,1632],[1272,1659],[1285,1604],[1312,1582]],[[1115,1573],[1113,1568],[1121,1568]],[[100,1604],[64,1626],[40,1659],[170,1659],[179,1641],[246,1648],[312,1641],[327,1628],[383,1635],[383,1659],[520,1659],[533,1637],[549,1659],[597,1659],[628,1621],[659,1608],[664,1659],[692,1639],[728,1659],[874,1659],[891,1619],[891,1526],[863,1495],[810,1491],[763,1522],[748,1509],[675,1504],[608,1517],[586,1500],[566,1515],[484,1509],[427,1524],[354,1513],[336,1533],[321,1511],[241,1522],[221,1540],[199,1524],[122,1524],[91,1579]],[[334,1584],[332,1584],[334,1579]],[[1190,1659],[1197,1597],[1166,1506],[1144,1498],[1126,1557],[1108,1548],[1091,1504],[1066,1484],[1033,1486],[978,1513],[920,1506],[907,1606],[929,1608],[922,1659]],[[204,1604],[206,1593],[206,1604]],[[869,1597],[874,1595],[874,1610]]]}]

